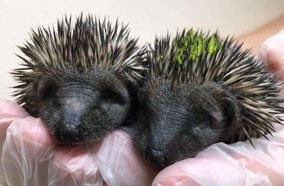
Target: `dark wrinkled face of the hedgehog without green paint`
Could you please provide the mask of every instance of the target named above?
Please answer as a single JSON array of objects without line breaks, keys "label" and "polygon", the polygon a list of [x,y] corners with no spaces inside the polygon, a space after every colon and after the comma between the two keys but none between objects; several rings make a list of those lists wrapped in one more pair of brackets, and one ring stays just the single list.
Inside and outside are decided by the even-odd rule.
[{"label": "dark wrinkled face of the hedgehog without green paint", "polygon": [[125,79],[111,71],[64,71],[56,82],[40,78],[34,90],[40,117],[62,143],[101,139],[123,123],[131,106]]}]

